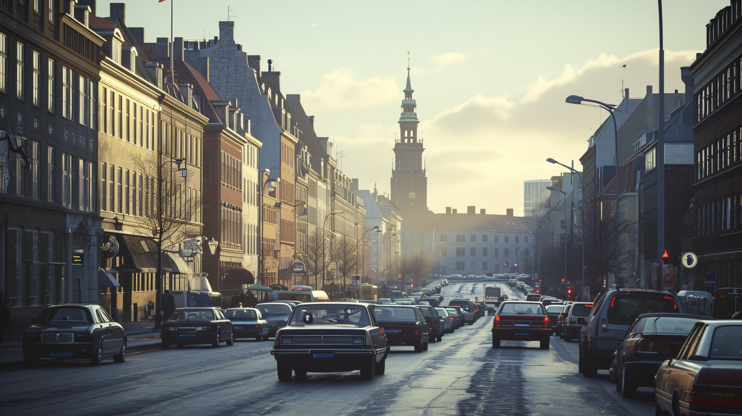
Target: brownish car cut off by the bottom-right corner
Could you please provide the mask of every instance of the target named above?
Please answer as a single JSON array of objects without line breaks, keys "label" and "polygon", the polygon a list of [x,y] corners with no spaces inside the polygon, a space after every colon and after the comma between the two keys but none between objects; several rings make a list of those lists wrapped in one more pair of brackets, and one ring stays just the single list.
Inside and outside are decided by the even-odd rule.
[{"label": "brownish car cut off by the bottom-right corner", "polygon": [[657,415],[740,415],[742,320],[698,321],[654,376]]}]

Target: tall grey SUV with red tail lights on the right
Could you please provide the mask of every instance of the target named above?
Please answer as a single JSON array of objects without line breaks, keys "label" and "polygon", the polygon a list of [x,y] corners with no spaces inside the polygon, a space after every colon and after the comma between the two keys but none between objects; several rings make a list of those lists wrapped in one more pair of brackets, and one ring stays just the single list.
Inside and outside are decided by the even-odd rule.
[{"label": "tall grey SUV with red tail lights on the right", "polygon": [[608,290],[594,303],[580,330],[580,373],[595,377],[599,369],[607,370],[618,342],[640,314],[682,313],[682,306],[674,294],[663,290]]}]

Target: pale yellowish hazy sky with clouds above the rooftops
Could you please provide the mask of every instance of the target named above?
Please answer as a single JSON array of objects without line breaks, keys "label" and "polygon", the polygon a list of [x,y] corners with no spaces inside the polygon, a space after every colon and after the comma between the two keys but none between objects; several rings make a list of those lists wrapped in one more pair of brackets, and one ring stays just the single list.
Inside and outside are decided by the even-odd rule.
[{"label": "pale yellowish hazy sky with clouds above the rooftops", "polygon": [[[98,16],[110,2],[97,1]],[[657,1],[130,0],[126,25],[145,27],[145,42],[170,37],[171,2],[176,37],[211,39],[234,21],[236,42],[263,71],[272,59],[281,92],[301,94],[361,189],[390,192],[409,57],[433,212],[522,215],[524,181],[560,175],[548,157],[582,170],[608,117],[566,97],[618,104],[626,89],[659,88]],[[729,3],[663,1],[667,93],[684,91],[680,67]]]}]

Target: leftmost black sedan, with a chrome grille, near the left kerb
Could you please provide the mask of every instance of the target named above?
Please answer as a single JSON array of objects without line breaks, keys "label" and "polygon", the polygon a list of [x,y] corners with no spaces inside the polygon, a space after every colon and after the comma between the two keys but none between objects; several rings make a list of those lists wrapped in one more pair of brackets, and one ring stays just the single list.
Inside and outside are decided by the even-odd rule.
[{"label": "leftmost black sedan, with a chrome grille, near the left kerb", "polygon": [[23,335],[23,359],[83,359],[100,365],[105,357],[126,360],[126,333],[99,305],[61,304],[46,308]]}]

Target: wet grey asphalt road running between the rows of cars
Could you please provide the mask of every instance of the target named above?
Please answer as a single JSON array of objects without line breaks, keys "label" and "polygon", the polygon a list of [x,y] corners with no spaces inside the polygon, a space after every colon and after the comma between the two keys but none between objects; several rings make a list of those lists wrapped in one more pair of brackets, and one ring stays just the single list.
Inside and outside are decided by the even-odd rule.
[{"label": "wet grey asphalt road running between the rows of cars", "polygon": [[[519,293],[505,293],[515,299]],[[483,282],[452,282],[447,299],[482,296]],[[523,297],[523,296],[521,296]],[[47,363],[0,373],[4,415],[652,415],[651,389],[624,399],[600,371],[577,373],[577,343],[552,337],[491,348],[491,319],[446,334],[416,354],[393,347],[387,371],[310,373],[280,383],[272,341],[196,345],[105,360]]]}]

